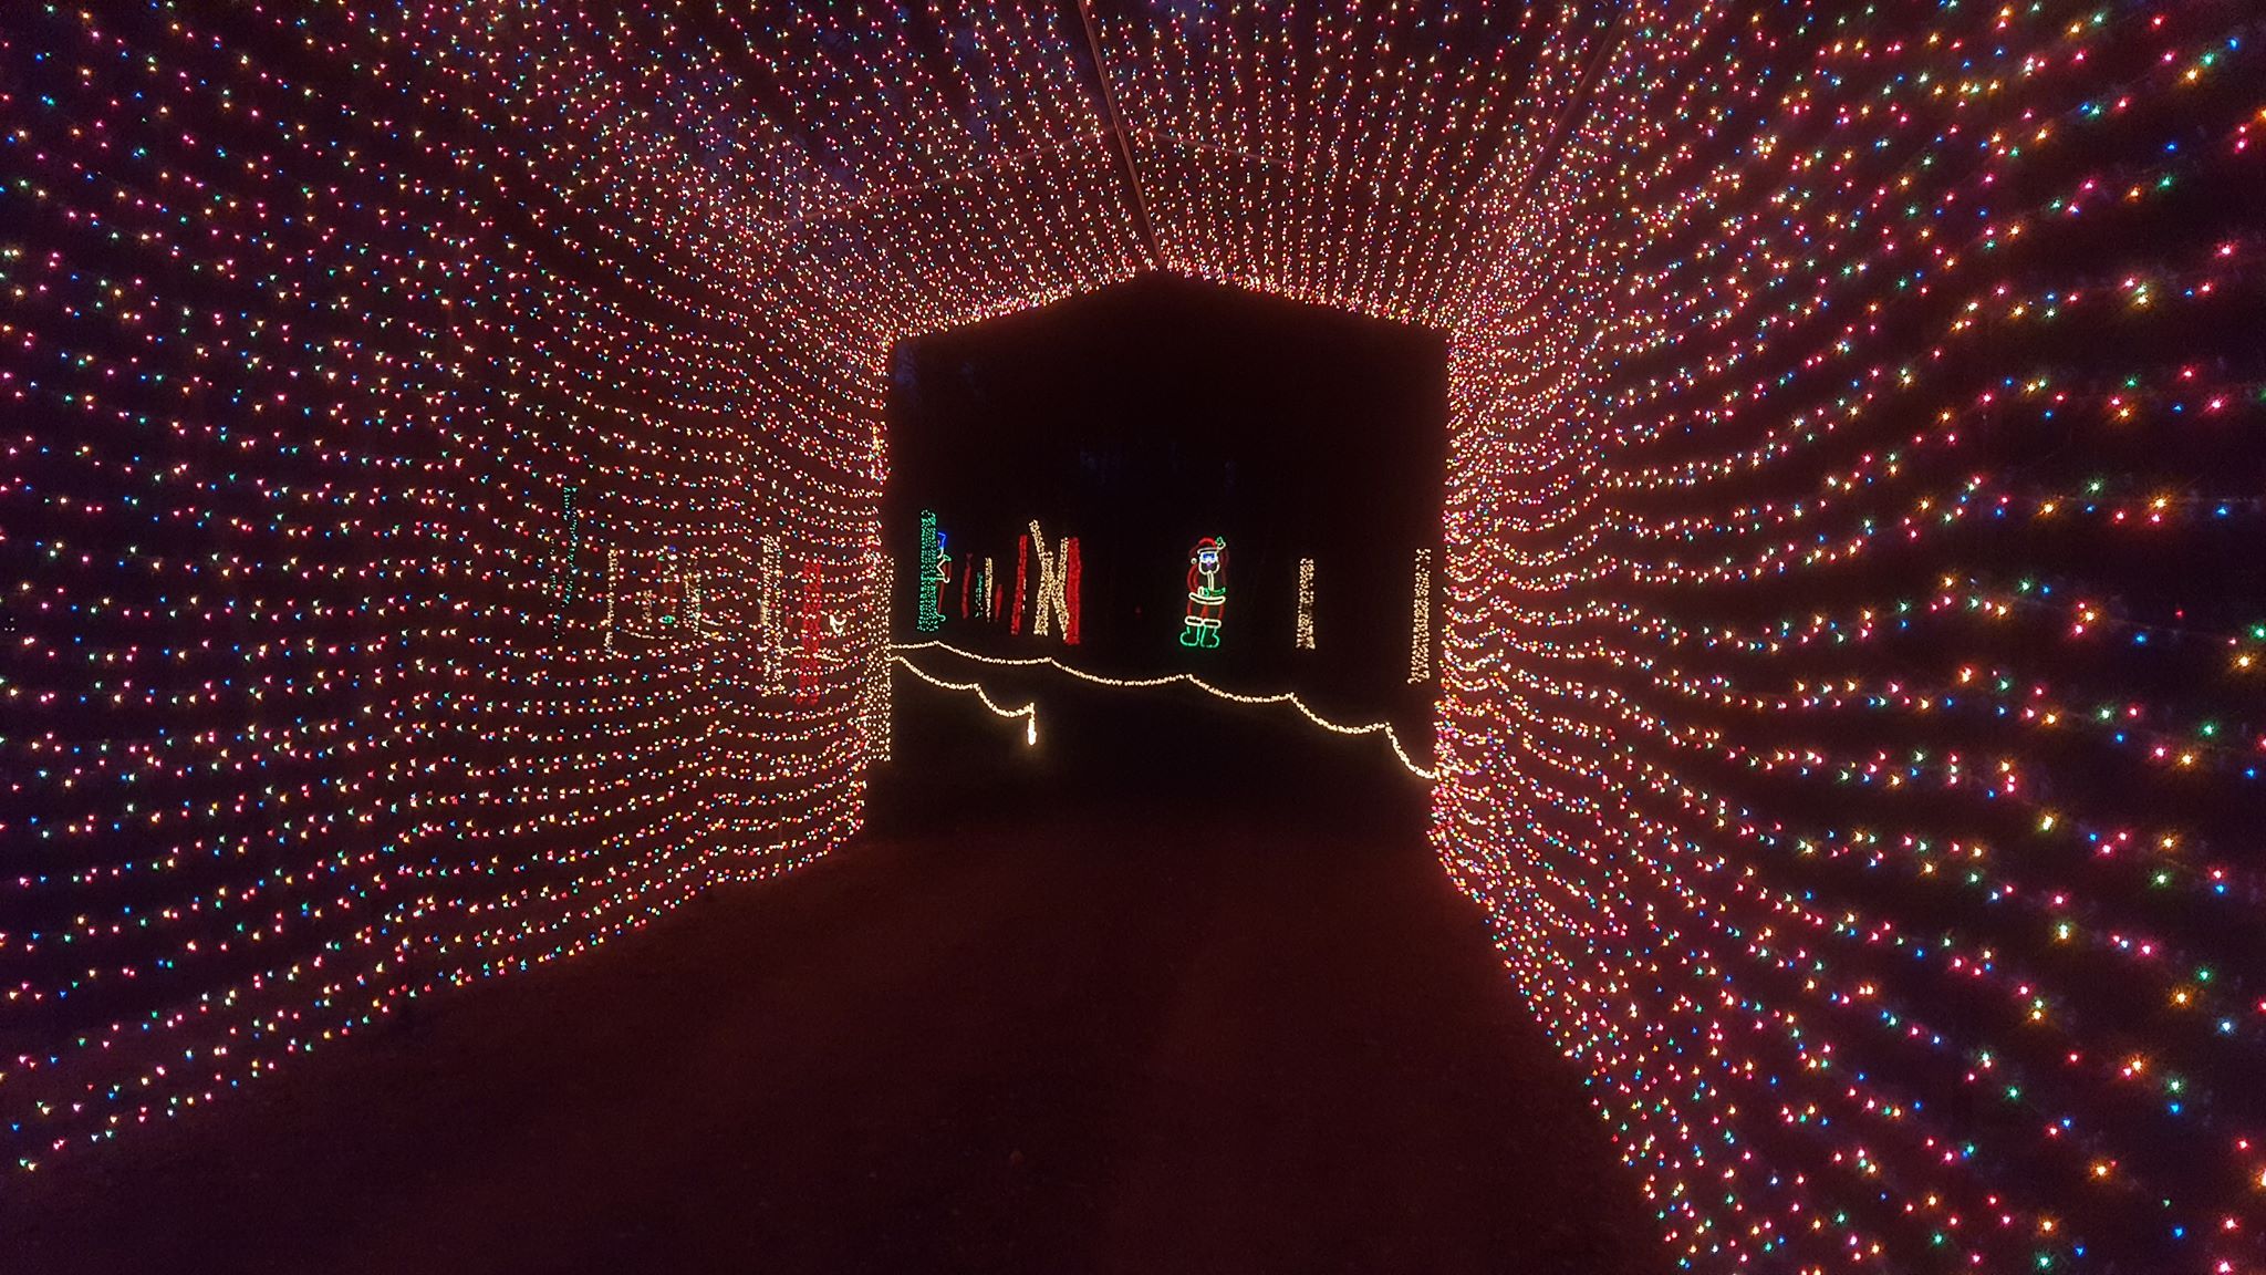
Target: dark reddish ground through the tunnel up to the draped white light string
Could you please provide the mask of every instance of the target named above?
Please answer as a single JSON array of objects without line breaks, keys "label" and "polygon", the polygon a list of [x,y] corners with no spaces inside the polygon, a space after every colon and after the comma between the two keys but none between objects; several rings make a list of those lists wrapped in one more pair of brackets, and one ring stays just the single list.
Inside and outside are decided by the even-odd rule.
[{"label": "dark reddish ground through the tunnel up to the draped white light string", "polygon": [[[1051,681],[1049,681],[1051,678]],[[897,676],[870,835],[0,1200],[27,1270],[1650,1270],[1378,737]]]}]

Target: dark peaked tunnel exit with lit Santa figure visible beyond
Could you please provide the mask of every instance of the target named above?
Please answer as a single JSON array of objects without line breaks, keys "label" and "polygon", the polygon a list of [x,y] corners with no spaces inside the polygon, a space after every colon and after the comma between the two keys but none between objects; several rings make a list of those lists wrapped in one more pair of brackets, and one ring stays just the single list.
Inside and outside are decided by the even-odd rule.
[{"label": "dark peaked tunnel exit with lit Santa figure visible beyond", "polygon": [[897,681],[1038,703],[1049,774],[1153,778],[1224,710],[1430,760],[1441,333],[1142,275],[900,340],[884,429]]}]

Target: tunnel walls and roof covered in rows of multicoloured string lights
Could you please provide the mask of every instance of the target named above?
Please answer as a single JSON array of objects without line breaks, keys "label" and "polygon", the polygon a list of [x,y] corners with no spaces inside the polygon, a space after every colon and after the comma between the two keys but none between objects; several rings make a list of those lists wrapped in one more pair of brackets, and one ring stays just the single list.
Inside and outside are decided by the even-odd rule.
[{"label": "tunnel walls and roof covered in rows of multicoloured string lights", "polygon": [[1434,844],[1670,1257],[2259,1268],[2252,7],[100,9],[0,18],[18,1164],[838,846],[888,345],[1162,268],[1450,336]]}]

